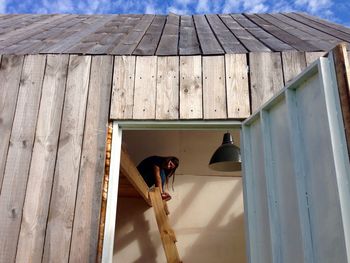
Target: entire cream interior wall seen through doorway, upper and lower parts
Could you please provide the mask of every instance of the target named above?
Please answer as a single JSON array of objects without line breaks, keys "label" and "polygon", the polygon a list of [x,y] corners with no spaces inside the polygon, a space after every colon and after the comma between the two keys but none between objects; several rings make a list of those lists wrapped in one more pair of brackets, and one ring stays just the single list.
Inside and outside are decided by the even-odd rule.
[{"label": "entire cream interior wall seen through doorway, upper and lower parts", "polygon": [[[237,137],[238,132],[233,133]],[[246,261],[241,177],[232,177],[232,173],[215,176],[216,172],[207,168],[208,158],[221,144],[222,135],[221,131],[123,134],[136,163],[152,154],[176,155],[180,159],[175,191],[169,190],[173,198],[168,206],[183,262]],[[153,209],[142,199],[118,199],[113,260],[166,262]]]}]

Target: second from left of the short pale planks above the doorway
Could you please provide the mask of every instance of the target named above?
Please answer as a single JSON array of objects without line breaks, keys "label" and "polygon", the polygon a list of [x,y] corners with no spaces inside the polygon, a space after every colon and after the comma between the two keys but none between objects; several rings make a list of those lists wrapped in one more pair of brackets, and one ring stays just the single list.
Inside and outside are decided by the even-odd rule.
[{"label": "second from left of the short pale planks above the doorway", "polygon": [[137,57],[133,119],[154,119],[156,116],[157,57]]}]

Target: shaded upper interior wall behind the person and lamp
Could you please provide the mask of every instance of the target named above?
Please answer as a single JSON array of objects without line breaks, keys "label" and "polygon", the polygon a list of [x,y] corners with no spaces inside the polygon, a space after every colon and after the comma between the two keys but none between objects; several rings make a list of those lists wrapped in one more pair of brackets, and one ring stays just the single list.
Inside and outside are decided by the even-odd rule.
[{"label": "shaded upper interior wall behind the person and lamp", "polygon": [[[123,143],[137,165],[151,155],[177,156],[176,175],[241,176],[240,172],[217,172],[208,168],[210,158],[221,145],[226,131],[124,131]],[[239,130],[230,131],[239,146]]]}]

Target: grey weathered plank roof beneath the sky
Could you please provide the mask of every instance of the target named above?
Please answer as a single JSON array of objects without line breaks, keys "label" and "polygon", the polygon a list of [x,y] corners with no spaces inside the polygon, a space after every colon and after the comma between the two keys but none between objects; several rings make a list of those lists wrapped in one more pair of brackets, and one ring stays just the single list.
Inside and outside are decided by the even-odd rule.
[{"label": "grey weathered plank roof beneath the sky", "polygon": [[0,15],[0,54],[218,55],[328,51],[350,28],[305,13]]}]

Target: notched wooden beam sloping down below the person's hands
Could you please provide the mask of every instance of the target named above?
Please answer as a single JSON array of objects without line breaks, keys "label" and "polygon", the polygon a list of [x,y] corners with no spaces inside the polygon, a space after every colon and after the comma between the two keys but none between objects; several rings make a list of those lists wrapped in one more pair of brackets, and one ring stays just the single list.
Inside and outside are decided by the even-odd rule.
[{"label": "notched wooden beam sloping down below the person's hands", "polygon": [[179,263],[180,257],[177,251],[175,242],[176,237],[174,230],[170,227],[168,217],[166,215],[163,200],[160,196],[160,190],[156,187],[153,191],[149,192],[149,197],[152,201],[154,213],[156,216],[160,238],[163,243],[165,256],[168,263]]}]

